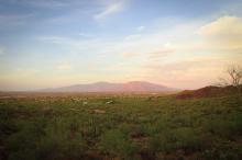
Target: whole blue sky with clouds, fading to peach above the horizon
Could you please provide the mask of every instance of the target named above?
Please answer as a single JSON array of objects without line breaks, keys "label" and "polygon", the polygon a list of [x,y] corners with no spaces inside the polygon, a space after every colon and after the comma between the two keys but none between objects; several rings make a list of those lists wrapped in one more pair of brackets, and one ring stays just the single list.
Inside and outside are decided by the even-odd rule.
[{"label": "whole blue sky with clouds, fading to peach above the horizon", "polygon": [[0,90],[215,84],[242,64],[241,8],[242,0],[0,0]]}]

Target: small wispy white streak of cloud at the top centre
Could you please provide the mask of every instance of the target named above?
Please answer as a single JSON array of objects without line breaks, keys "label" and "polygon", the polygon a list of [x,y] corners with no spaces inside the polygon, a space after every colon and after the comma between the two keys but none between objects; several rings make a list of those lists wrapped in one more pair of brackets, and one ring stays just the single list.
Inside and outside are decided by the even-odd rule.
[{"label": "small wispy white streak of cloud at the top centre", "polygon": [[103,9],[94,15],[97,21],[102,21],[107,16],[118,13],[124,9],[124,1],[111,1],[105,4]]}]

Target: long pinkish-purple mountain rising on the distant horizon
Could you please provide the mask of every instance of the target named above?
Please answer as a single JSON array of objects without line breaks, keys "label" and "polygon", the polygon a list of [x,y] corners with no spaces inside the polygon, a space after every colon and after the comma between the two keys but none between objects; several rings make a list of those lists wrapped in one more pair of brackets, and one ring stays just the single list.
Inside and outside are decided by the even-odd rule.
[{"label": "long pinkish-purple mountain rising on the distant horizon", "polygon": [[62,88],[41,90],[44,92],[167,92],[175,89],[145,81],[130,81],[127,83],[96,82],[75,84]]}]

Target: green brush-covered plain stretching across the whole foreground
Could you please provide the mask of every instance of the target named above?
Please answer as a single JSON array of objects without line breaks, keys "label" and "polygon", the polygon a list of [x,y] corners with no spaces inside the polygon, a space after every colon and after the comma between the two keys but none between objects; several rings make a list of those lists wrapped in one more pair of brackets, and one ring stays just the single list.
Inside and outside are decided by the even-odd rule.
[{"label": "green brush-covered plain stretching across the whole foreground", "polygon": [[1,160],[241,160],[242,98],[2,96]]}]

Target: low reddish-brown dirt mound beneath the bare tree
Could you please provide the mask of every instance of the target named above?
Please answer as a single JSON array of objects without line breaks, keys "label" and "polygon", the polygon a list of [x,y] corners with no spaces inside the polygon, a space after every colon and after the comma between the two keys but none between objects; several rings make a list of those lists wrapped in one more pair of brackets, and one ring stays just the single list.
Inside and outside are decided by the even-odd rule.
[{"label": "low reddish-brown dirt mound beneath the bare tree", "polygon": [[196,98],[215,98],[229,94],[237,94],[238,88],[233,85],[228,87],[205,87],[198,90],[185,90],[177,94],[177,99],[196,99]]}]

